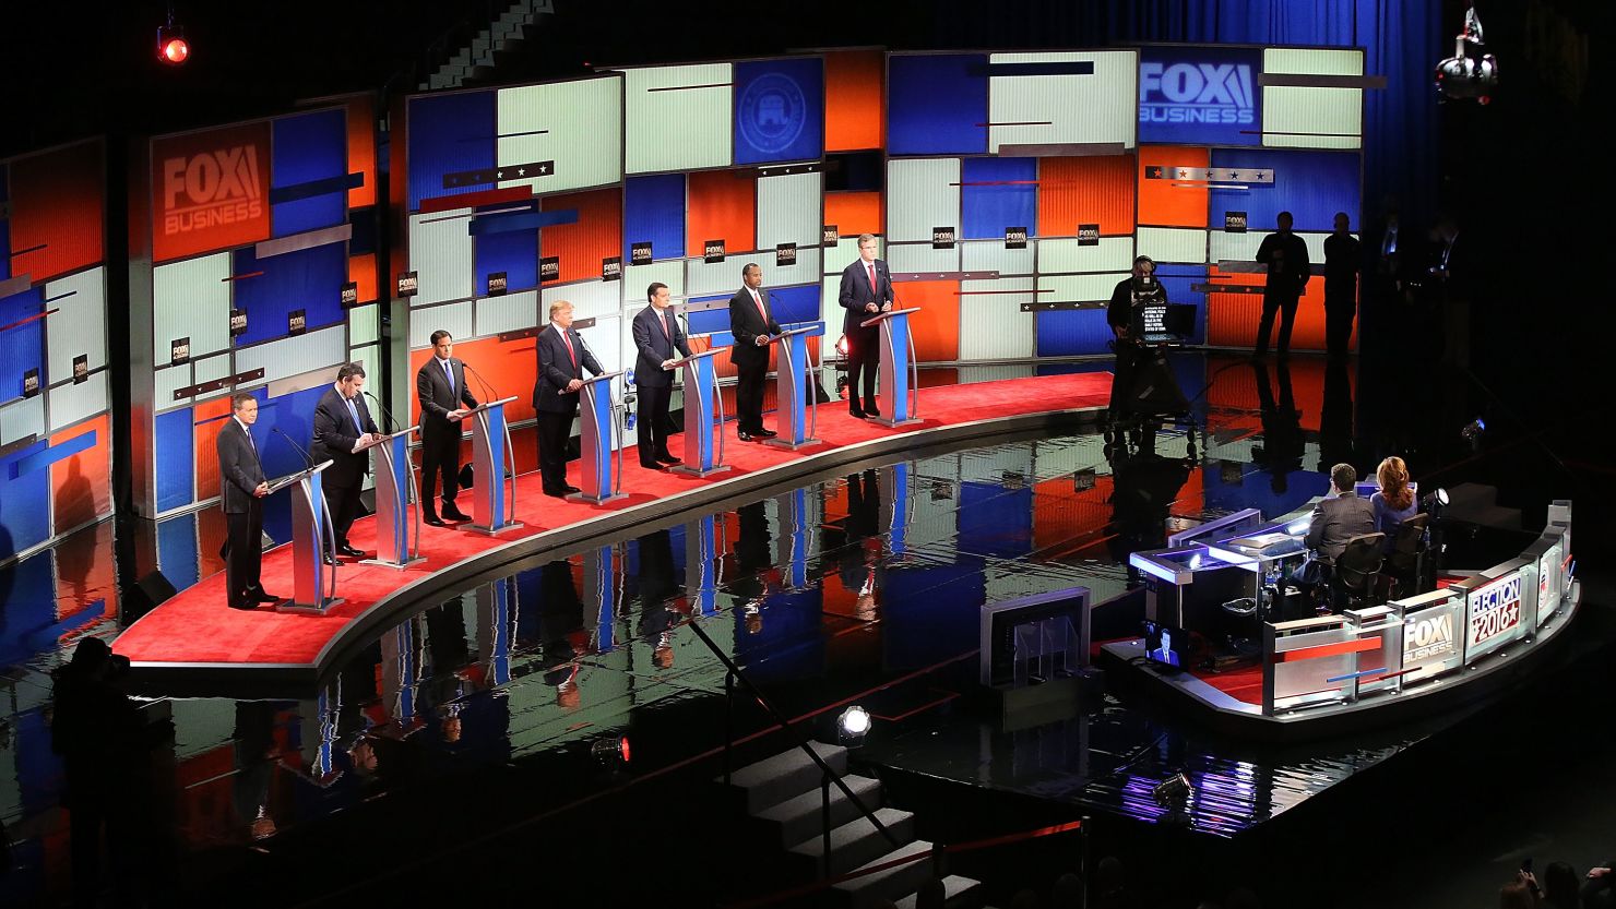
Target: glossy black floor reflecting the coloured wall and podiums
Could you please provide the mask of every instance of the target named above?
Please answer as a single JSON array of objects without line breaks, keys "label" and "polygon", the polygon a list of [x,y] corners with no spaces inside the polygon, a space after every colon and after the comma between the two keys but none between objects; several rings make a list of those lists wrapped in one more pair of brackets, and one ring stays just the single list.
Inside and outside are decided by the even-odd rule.
[{"label": "glossy black floor reflecting the coloured wall and podiums", "polygon": [[[1065,368],[1086,367],[1044,367]],[[816,728],[847,701],[869,706],[877,730],[861,759],[894,773],[1220,838],[1302,809],[1461,720],[1273,749],[1218,741],[1117,696],[1015,733],[999,731],[992,712],[973,702],[983,602],[1084,586],[1094,602],[1118,602],[1096,622],[1134,631],[1126,554],[1160,546],[1170,518],[1291,510],[1324,491],[1324,471],[1336,460],[1367,473],[1382,454],[1398,452],[1420,459],[1422,483],[1456,484],[1508,475],[1517,457],[1540,459],[1527,444],[1500,444],[1500,455],[1483,457],[1458,433],[1425,433],[1398,408],[1378,408],[1390,415],[1383,421],[1362,420],[1364,396],[1377,392],[1359,389],[1346,362],[1254,367],[1186,354],[1176,368],[1196,428],[1164,428],[1122,446],[1097,434],[1007,439],[873,462],[485,578],[381,633],[317,691],[165,701],[154,710],[171,710],[175,736],[150,773],[173,804],[181,862],[330,836],[344,823],[407,811],[398,806],[427,801],[419,793],[428,790],[449,793],[451,804],[457,791],[509,802],[461,806],[451,811],[462,815],[446,820],[520,827],[716,759],[726,715],[719,654],[787,717]],[[1028,371],[949,370],[932,381]],[[1482,399],[1461,378],[1429,394],[1432,410],[1451,412],[1448,423]],[[1513,429],[1529,438],[1508,423],[1495,433]],[[1553,476],[1535,476],[1542,488],[1524,483],[1506,502],[1524,509],[1517,520],[1527,528],[1561,494]],[[113,526],[102,525],[0,570],[11,697],[0,817],[18,843],[18,872],[0,882],[3,891],[48,899],[66,886],[50,670],[82,636],[112,636],[133,618],[139,596],[123,588],[120,597],[115,576],[142,576],[154,565],[179,580],[217,570],[212,520],[200,513],[131,528],[120,538],[124,565],[113,563]],[[1480,563],[1517,549],[1506,528],[1477,530],[1456,544],[1454,559]],[[1104,636],[1097,626],[1096,638]],[[764,727],[750,706],[735,717],[739,736]],[[591,749],[616,748],[622,736],[632,746],[627,767],[603,769]],[[711,775],[716,764],[696,767]],[[1152,788],[1181,770],[1194,791],[1167,811]]]}]

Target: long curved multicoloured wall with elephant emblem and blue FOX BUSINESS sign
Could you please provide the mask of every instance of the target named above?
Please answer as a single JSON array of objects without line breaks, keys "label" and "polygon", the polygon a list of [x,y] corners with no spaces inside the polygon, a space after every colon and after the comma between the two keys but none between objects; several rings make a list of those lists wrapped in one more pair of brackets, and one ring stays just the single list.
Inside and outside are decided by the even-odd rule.
[{"label": "long curved multicoloured wall with elephant emblem and blue FOX BUSINESS sign", "polygon": [[[1136,253],[1199,305],[1196,341],[1249,347],[1275,215],[1315,263],[1336,212],[1356,226],[1362,66],[1259,47],[829,52],[412,97],[394,123],[412,367],[448,329],[525,420],[553,300],[616,370],[651,281],[698,344],[727,344],[747,262],[782,323],[829,323],[829,354],[861,232],[900,305],[926,310],[924,363],[1109,352],[1104,304]],[[1324,347],[1319,279],[1294,346]]]}]

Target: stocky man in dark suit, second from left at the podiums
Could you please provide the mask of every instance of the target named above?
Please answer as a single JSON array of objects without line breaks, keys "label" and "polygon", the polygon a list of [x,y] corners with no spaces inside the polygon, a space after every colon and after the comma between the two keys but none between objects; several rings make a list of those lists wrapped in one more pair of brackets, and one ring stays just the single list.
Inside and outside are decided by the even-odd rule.
[{"label": "stocky man in dark suit, second from left at the podiums", "polygon": [[364,552],[349,546],[347,530],[359,517],[359,492],[370,473],[370,454],[365,449],[381,438],[364,396],[359,394],[364,387],[365,368],[359,363],[344,363],[336,370],[336,384],[320,396],[320,404],[314,408],[310,446],[315,462],[331,462],[322,475],[325,504],[331,509],[336,551],[354,559]]}]

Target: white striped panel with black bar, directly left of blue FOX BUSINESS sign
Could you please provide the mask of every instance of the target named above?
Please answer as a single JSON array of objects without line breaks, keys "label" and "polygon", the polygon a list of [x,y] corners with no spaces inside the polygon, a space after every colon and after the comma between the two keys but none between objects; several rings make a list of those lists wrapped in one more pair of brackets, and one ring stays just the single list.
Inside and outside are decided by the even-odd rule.
[{"label": "white striped panel with black bar, directly left of blue FOX BUSINESS sign", "polygon": [[1122,142],[1134,147],[1139,55],[1134,50],[994,53],[992,63],[1094,63],[1091,76],[992,76],[987,150],[1004,144]]}]

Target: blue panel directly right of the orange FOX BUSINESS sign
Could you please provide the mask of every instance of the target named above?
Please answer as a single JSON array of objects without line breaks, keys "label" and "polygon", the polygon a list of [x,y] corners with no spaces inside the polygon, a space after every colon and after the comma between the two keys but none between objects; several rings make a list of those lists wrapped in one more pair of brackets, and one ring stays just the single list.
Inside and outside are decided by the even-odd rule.
[{"label": "blue panel directly right of the orange FOX BUSINESS sign", "polygon": [[[343,108],[283,116],[273,124],[270,224],[276,237],[335,228],[347,216],[347,111]],[[341,181],[326,192],[275,202],[276,189]],[[291,194],[296,195],[296,194]]]}]

